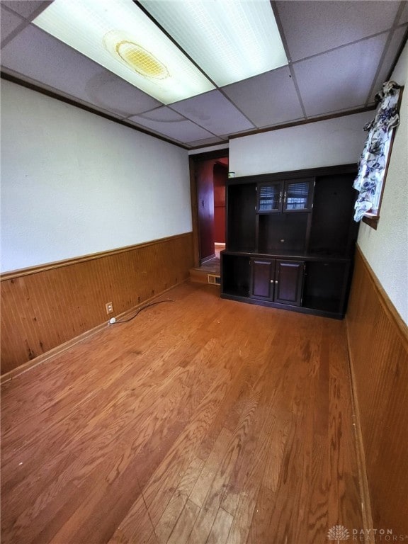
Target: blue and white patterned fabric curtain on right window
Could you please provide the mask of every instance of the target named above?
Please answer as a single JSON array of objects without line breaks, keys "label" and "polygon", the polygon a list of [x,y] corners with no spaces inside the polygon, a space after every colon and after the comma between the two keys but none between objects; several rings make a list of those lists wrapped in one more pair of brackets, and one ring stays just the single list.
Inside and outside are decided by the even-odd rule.
[{"label": "blue and white patterned fabric curtain on right window", "polygon": [[353,183],[353,187],[359,191],[354,206],[355,221],[360,221],[366,212],[375,211],[378,206],[392,129],[399,125],[399,85],[395,81],[386,81],[382,85],[382,91],[375,98],[380,103],[375,118],[364,127],[368,136],[358,163],[358,174]]}]

